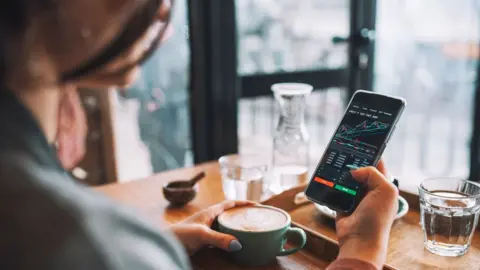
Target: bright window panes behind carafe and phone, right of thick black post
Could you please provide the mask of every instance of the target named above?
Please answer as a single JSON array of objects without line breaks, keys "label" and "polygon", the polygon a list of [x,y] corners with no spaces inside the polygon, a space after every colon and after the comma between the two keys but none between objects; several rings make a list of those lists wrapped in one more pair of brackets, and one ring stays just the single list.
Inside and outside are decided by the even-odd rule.
[{"label": "bright window panes behind carafe and phone, right of thick black post", "polygon": [[[348,47],[334,45],[332,38],[348,36],[349,3],[237,1],[239,75],[281,79],[303,70],[344,68]],[[426,177],[467,178],[478,66],[469,50],[479,46],[479,2],[376,3],[373,90],[408,101],[384,155],[390,171],[410,191]],[[347,90],[354,90],[346,85],[317,89],[308,100],[311,167],[343,114]],[[248,98],[239,102],[240,151],[270,153],[275,101],[269,89],[247,90]]]}]

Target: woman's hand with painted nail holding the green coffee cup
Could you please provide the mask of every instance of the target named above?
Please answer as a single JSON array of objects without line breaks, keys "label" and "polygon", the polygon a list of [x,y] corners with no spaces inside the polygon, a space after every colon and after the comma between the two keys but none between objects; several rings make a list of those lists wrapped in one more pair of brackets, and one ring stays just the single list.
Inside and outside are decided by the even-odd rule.
[{"label": "woman's hand with painted nail holding the green coffee cup", "polygon": [[193,255],[204,246],[215,246],[226,251],[238,251],[242,248],[242,245],[235,237],[214,231],[211,229],[211,226],[215,219],[225,210],[245,205],[255,205],[255,203],[248,201],[224,201],[198,212],[184,221],[173,225],[170,229],[182,242],[189,255]]}]

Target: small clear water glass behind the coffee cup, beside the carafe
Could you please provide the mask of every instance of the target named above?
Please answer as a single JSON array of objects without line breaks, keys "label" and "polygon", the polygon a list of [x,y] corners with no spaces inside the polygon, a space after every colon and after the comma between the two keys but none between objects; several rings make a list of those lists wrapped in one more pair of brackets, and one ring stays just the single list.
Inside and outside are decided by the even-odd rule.
[{"label": "small clear water glass behind the coffee cup, beside the carafe", "polygon": [[255,155],[228,155],[219,160],[223,192],[228,200],[261,201],[266,159]]}]

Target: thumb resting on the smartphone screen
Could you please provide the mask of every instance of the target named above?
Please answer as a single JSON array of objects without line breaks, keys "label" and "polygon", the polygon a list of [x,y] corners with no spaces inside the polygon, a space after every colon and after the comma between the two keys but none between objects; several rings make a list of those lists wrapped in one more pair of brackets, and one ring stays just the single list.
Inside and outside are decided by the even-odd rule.
[{"label": "thumb resting on the smartphone screen", "polygon": [[351,171],[355,180],[365,184],[369,191],[381,190],[382,192],[397,192],[395,186],[374,167],[365,167]]}]

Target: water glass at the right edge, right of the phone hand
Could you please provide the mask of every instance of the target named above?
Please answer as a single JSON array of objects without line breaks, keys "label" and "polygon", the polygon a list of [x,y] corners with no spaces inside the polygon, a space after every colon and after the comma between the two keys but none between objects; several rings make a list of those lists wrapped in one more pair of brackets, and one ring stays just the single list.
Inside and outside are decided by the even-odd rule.
[{"label": "water glass at the right edge, right of the phone hand", "polygon": [[432,178],[418,190],[425,248],[441,256],[467,253],[478,223],[480,184]]}]

